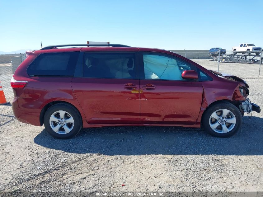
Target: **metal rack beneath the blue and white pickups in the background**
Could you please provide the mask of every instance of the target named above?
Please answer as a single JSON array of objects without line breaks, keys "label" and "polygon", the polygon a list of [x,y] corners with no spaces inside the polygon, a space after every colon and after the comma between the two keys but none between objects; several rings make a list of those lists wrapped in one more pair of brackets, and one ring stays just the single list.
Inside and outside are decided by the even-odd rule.
[{"label": "metal rack beneath the blue and white pickups in the background", "polygon": [[[243,52],[219,52],[209,54],[212,57],[212,61],[225,62],[225,63],[253,63],[260,64],[263,62],[262,51],[243,51]],[[261,60],[261,61],[260,61]]]}]

